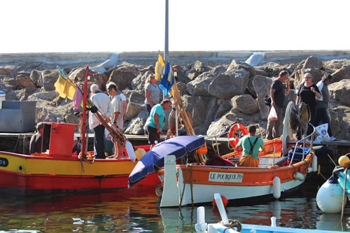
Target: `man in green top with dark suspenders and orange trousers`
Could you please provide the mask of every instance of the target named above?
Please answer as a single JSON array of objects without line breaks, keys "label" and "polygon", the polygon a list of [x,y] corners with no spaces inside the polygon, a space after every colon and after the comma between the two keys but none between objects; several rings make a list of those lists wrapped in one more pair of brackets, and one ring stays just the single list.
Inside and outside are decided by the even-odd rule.
[{"label": "man in green top with dark suspenders and orange trousers", "polygon": [[264,148],[264,141],[255,136],[255,132],[255,125],[249,125],[249,134],[242,137],[235,148],[236,150],[243,148],[242,157],[237,162],[238,167],[259,167],[259,149]]}]

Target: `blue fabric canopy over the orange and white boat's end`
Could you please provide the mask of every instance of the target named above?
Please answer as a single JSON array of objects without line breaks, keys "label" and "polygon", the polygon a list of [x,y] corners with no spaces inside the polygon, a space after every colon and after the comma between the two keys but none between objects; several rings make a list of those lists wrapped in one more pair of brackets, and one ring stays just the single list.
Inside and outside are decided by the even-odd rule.
[{"label": "blue fabric canopy over the orange and white boat's end", "polygon": [[175,155],[176,159],[183,157],[187,152],[192,152],[204,146],[203,136],[176,136],[155,145],[136,164],[129,176],[129,186],[132,186],[148,174],[155,171],[154,166],[164,167],[164,157]]}]

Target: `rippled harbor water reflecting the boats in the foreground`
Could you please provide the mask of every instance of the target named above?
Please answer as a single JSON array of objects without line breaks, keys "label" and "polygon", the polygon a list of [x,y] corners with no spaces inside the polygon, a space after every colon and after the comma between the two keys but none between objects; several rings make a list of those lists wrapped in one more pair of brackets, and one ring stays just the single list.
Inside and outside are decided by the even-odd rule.
[{"label": "rippled harbor water reflecting the boats in the foreground", "polygon": [[[280,227],[350,231],[350,209],[326,214],[316,205],[321,184],[307,179],[300,190],[274,202],[241,205],[230,201],[228,218],[241,223],[270,225],[276,216]],[[0,232],[195,232],[197,206],[160,209],[155,187],[113,192],[66,193],[41,197],[1,197]],[[219,192],[219,190],[218,190]],[[207,204],[207,223],[221,220]]]}]

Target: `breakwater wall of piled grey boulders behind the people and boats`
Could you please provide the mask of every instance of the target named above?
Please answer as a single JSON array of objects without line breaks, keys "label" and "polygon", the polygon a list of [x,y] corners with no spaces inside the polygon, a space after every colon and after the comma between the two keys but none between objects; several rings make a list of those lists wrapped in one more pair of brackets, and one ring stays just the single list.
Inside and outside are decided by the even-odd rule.
[{"label": "breakwater wall of piled grey boulders behind the people and boats", "polygon": [[[89,63],[94,70],[89,87],[97,83],[106,90],[106,83],[113,81],[127,96],[125,134],[144,134],[147,116],[144,83],[148,73],[154,72],[155,61],[156,57],[118,59],[116,64]],[[292,74],[292,89],[300,85],[304,73],[312,73],[314,83],[321,80],[325,72],[332,73],[335,80],[328,87],[330,127],[337,139],[349,139],[350,59],[311,56],[262,61],[257,66],[232,58],[177,57],[171,62],[177,68],[177,84],[183,103],[193,115],[196,134],[223,134],[233,123],[239,122],[242,125],[259,124],[265,136],[268,107],[263,104],[263,97],[269,93],[269,86],[278,73],[287,70]],[[56,66],[47,62],[0,62],[0,90],[6,92],[6,100],[36,101],[36,122],[61,118],[78,123],[73,115],[73,102],[57,98],[54,87],[58,78]],[[74,83],[83,86],[86,63],[60,63],[59,66]],[[293,100],[294,92],[291,91],[286,101]]]}]

